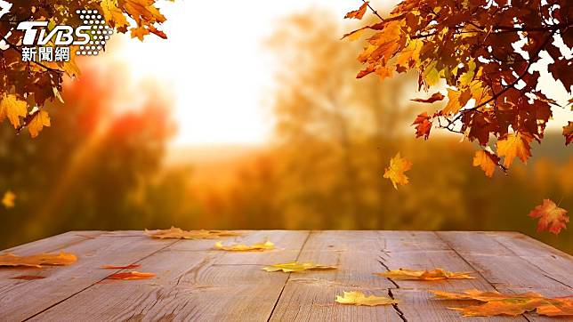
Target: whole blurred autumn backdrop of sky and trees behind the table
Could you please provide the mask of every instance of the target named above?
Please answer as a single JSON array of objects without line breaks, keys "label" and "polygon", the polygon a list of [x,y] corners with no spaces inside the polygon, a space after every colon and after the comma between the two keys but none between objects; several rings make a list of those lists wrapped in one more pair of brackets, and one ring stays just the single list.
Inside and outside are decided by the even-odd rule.
[{"label": "whole blurred autumn backdrop of sky and trees behind the table", "polygon": [[[537,233],[527,216],[546,197],[573,211],[559,131],[570,113],[557,111],[528,165],[487,178],[472,143],[436,129],[415,139],[428,109],[408,101],[424,96],[416,75],[355,78],[361,44],[340,37],[359,4],[179,1],[162,5],[168,40],[114,36],[79,61],[38,138],[0,125],[0,190],[16,195],[0,206],[0,249],[173,225],[517,230],[573,254],[573,229]],[[383,170],[398,151],[414,165],[395,190]]]}]

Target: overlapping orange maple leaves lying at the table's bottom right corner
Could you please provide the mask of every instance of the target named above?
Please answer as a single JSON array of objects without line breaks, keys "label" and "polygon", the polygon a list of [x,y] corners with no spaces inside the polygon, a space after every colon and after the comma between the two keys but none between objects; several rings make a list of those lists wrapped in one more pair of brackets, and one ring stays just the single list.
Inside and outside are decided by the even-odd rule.
[{"label": "overlapping orange maple leaves lying at the table's bottom right corner", "polygon": [[552,299],[533,292],[500,294],[496,291],[480,292],[478,290],[464,291],[464,294],[444,291],[430,292],[441,300],[477,300],[485,302],[464,308],[449,308],[450,310],[461,311],[464,317],[517,316],[532,310],[537,310],[537,314],[550,317],[573,315],[573,300],[569,297]]}]

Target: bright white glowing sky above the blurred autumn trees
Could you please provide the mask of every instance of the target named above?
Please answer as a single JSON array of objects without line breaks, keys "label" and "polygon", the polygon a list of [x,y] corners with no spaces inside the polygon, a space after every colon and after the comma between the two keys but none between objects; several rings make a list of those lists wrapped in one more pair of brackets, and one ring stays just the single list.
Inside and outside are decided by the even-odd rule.
[{"label": "bright white glowing sky above the blurred autumn trees", "polygon": [[[383,4],[398,2],[371,3],[382,11]],[[272,130],[263,99],[271,88],[273,70],[262,41],[289,14],[320,8],[342,20],[359,4],[359,0],[163,2],[167,18],[163,30],[169,39],[148,36],[141,43],[115,35],[123,47],[107,54],[125,61],[135,81],[155,78],[173,93],[179,125],[175,146],[262,143]],[[564,88],[556,87],[551,76],[542,77],[542,82],[547,91],[566,98]],[[564,113],[568,112],[557,112],[553,126],[570,118]]]}]

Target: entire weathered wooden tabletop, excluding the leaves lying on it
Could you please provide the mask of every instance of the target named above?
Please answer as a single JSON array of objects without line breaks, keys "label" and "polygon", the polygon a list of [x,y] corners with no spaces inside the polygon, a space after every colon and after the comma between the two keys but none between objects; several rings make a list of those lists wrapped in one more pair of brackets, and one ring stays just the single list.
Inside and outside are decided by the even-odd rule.
[{"label": "entire weathered wooden tabletop, excluding the leaves lying on it", "polygon": [[[77,231],[5,250],[14,254],[66,251],[66,267],[0,269],[0,321],[545,321],[461,318],[457,302],[432,299],[428,289],[477,288],[505,293],[573,294],[573,257],[514,232],[244,231],[226,242],[269,238],[266,252],[214,249],[214,240],[158,240],[141,231]],[[4,252],[2,252],[4,253]],[[278,262],[317,262],[339,270],[269,273]],[[110,280],[120,270],[101,265],[138,263],[149,280]],[[394,281],[372,273],[401,267],[471,271],[476,279]],[[19,275],[44,279],[18,280]],[[390,295],[395,306],[334,302],[359,290]],[[461,304],[462,306],[464,304]]]}]

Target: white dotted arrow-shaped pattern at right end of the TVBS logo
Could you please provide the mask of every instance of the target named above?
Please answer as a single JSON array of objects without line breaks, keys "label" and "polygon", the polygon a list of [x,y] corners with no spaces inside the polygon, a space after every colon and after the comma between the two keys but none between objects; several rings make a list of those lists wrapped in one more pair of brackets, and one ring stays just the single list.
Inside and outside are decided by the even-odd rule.
[{"label": "white dotted arrow-shaped pattern at right end of the TVBS logo", "polygon": [[97,10],[77,10],[76,13],[79,15],[79,19],[82,20],[83,26],[90,28],[89,33],[91,35],[91,40],[88,42],[89,45],[79,46],[76,54],[78,56],[97,55],[103,49],[106,40],[109,40],[109,37],[113,35],[113,28],[109,28],[106,20],[103,19]]}]

